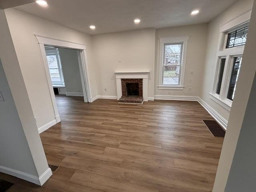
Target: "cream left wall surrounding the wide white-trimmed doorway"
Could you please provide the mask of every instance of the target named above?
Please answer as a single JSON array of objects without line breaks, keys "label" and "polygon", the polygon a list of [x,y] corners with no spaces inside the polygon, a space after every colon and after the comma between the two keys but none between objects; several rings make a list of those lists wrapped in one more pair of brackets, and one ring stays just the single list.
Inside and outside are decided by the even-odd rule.
[{"label": "cream left wall surrounding the wide white-trimmed doorway", "polygon": [[55,117],[40,48],[34,34],[85,44],[92,96],[98,95],[98,67],[92,62],[90,35],[14,8],[6,9],[5,12],[38,128],[52,122]]}]

